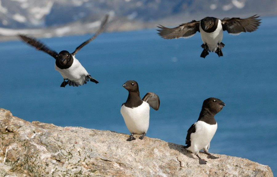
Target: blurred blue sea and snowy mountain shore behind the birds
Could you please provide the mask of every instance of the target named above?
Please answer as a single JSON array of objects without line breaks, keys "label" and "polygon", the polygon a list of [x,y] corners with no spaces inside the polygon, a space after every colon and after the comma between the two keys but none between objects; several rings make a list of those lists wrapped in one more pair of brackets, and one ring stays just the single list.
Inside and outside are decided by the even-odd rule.
[{"label": "blurred blue sea and snowy mountain shore behind the birds", "polygon": [[[76,54],[99,84],[60,88],[54,59],[16,36],[29,34],[57,52],[73,52],[105,14],[104,32]],[[156,31],[158,24],[255,14],[262,19],[256,31],[223,32],[220,58],[200,58],[199,33],[166,40]],[[120,114],[128,96],[122,84],[136,80],[141,97],[154,92],[161,101],[150,111],[146,136],[184,145],[203,100],[216,97],[226,106],[215,116],[210,152],[248,158],[276,174],[276,15],[276,0],[0,0],[0,107],[26,121],[129,134]]]}]

